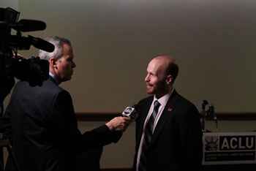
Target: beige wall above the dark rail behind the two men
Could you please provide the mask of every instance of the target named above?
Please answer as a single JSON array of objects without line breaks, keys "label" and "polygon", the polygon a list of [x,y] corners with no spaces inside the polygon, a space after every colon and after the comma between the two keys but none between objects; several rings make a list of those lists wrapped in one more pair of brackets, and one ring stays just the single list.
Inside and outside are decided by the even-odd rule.
[{"label": "beige wall above the dark rail behind the two men", "polygon": [[[148,60],[176,56],[176,88],[217,112],[255,112],[256,1],[22,0],[21,18],[48,28],[29,34],[73,42],[77,68],[62,86],[77,112],[118,112],[146,96]],[[34,55],[34,50],[20,52]]]}]

